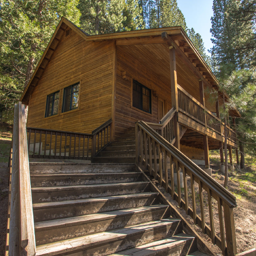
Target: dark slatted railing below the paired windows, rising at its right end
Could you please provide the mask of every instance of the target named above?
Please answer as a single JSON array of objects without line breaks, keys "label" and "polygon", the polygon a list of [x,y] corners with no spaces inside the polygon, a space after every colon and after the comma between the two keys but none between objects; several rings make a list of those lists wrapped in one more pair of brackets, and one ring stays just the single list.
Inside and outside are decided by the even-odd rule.
[{"label": "dark slatted railing below the paired windows, rising at its right end", "polygon": [[91,160],[111,142],[112,120],[92,133],[27,127],[29,158]]}]

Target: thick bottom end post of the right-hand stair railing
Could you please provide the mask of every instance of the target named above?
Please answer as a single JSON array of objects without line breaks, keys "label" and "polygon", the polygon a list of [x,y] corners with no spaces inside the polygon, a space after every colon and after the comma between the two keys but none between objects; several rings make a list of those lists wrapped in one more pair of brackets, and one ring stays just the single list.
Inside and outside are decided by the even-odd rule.
[{"label": "thick bottom end post of the right-hand stair railing", "polygon": [[227,242],[227,255],[236,255],[236,230],[233,208],[229,207],[226,203],[223,205],[224,220],[226,229],[226,242]]}]

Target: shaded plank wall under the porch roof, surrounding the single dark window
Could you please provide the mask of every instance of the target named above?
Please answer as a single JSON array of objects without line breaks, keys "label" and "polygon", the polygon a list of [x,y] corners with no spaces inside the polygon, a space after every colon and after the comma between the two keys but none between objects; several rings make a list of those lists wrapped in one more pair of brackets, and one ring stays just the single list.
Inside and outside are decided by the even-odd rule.
[{"label": "shaded plank wall under the porch roof, surrounding the single dark window", "polygon": [[[158,123],[158,98],[153,95],[153,91],[156,91],[158,97],[166,100],[168,109],[172,106],[170,79],[165,80],[165,77],[163,79],[155,72],[155,66],[146,62],[148,60],[147,54],[148,51],[143,45],[117,46],[116,137],[123,134],[126,129],[135,127],[135,122],[138,120]],[[154,55],[153,52],[151,52],[150,57],[153,60],[152,55]],[[126,72],[129,79],[122,78],[123,72]],[[131,77],[151,89],[152,114],[143,113],[143,111],[131,107]]]}]

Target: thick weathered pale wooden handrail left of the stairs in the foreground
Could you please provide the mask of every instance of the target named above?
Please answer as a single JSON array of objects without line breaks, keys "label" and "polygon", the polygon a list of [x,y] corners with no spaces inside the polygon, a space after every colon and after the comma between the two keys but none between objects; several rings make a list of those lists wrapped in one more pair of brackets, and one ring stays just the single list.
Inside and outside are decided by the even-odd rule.
[{"label": "thick weathered pale wooden handrail left of the stairs in the foreground", "polygon": [[25,106],[14,107],[12,135],[11,204],[8,255],[36,254]]}]

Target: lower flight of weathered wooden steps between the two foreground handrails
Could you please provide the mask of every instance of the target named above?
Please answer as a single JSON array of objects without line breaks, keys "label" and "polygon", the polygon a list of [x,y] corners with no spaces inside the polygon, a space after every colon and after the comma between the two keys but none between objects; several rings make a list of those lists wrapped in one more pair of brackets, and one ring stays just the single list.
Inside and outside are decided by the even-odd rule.
[{"label": "lower flight of weathered wooden steps between the two foreground handrails", "polygon": [[36,255],[197,251],[196,238],[134,164],[30,163],[30,174]]}]

